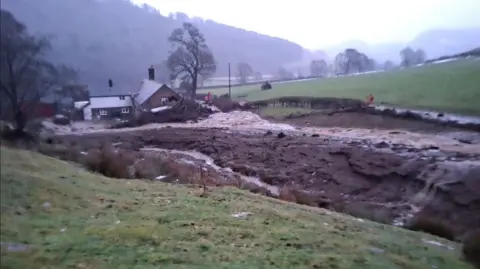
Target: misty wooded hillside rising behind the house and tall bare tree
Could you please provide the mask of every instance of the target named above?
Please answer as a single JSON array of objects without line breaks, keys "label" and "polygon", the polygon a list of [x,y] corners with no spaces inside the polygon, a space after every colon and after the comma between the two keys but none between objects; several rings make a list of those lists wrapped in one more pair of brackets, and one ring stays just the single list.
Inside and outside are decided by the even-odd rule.
[{"label": "misty wooded hillside rising behind the house and tall bare tree", "polygon": [[[172,30],[192,21],[184,14],[164,17],[128,0],[3,0],[2,9],[12,12],[31,33],[51,35],[51,59],[78,69],[92,91],[106,86],[108,78],[123,87],[137,86],[149,65],[167,58]],[[213,50],[216,76],[227,74],[228,62],[234,67],[245,61],[266,74],[302,58],[301,46],[280,38],[213,21],[193,22]]]}]

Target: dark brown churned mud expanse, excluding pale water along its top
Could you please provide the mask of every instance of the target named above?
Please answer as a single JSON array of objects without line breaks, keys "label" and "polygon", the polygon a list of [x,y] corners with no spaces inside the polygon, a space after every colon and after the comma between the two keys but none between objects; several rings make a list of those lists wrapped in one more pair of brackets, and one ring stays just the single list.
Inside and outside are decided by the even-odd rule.
[{"label": "dark brown churned mud expanse, excluding pale water along its top", "polygon": [[59,139],[75,141],[85,149],[122,142],[120,147],[133,150],[195,150],[220,167],[272,185],[308,190],[329,201],[327,207],[351,202],[383,211],[391,220],[420,209],[447,220],[458,232],[480,228],[480,154],[432,155],[436,149],[396,145],[392,150],[389,145],[342,143],[326,137],[279,138],[277,133],[222,129],[163,128]]}]

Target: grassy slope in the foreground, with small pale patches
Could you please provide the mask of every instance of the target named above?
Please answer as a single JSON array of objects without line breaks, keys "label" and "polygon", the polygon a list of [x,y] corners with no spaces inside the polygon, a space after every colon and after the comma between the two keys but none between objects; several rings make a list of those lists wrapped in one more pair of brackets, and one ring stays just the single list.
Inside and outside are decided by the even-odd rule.
[{"label": "grassy slope in the foreground, with small pale patches", "polygon": [[[232,188],[202,198],[36,153],[1,155],[1,241],[34,246],[2,248],[2,268],[471,268],[421,240],[454,243],[425,234]],[[231,216],[241,211],[253,215]]]}]

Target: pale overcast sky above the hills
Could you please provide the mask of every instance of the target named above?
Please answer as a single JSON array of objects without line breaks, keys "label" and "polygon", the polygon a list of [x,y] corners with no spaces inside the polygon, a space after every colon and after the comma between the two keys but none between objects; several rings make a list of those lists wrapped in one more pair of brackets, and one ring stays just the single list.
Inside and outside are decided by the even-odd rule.
[{"label": "pale overcast sky above the hills", "polygon": [[[480,27],[480,0],[133,0],[282,37],[309,49],[408,41],[432,28]],[[479,38],[480,39],[480,38]]]}]

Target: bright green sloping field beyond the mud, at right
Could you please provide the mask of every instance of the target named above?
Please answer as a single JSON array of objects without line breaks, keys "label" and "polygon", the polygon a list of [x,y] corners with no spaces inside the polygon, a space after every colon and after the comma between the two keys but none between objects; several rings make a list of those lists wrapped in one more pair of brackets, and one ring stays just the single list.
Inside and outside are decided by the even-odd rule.
[{"label": "bright green sloping field beyond the mud, at right", "polygon": [[[228,89],[203,90],[225,94]],[[232,96],[248,101],[281,96],[340,97],[375,101],[410,108],[480,115],[480,60],[468,59],[414,67],[401,71],[273,84],[261,91],[260,85],[234,87]]]}]

